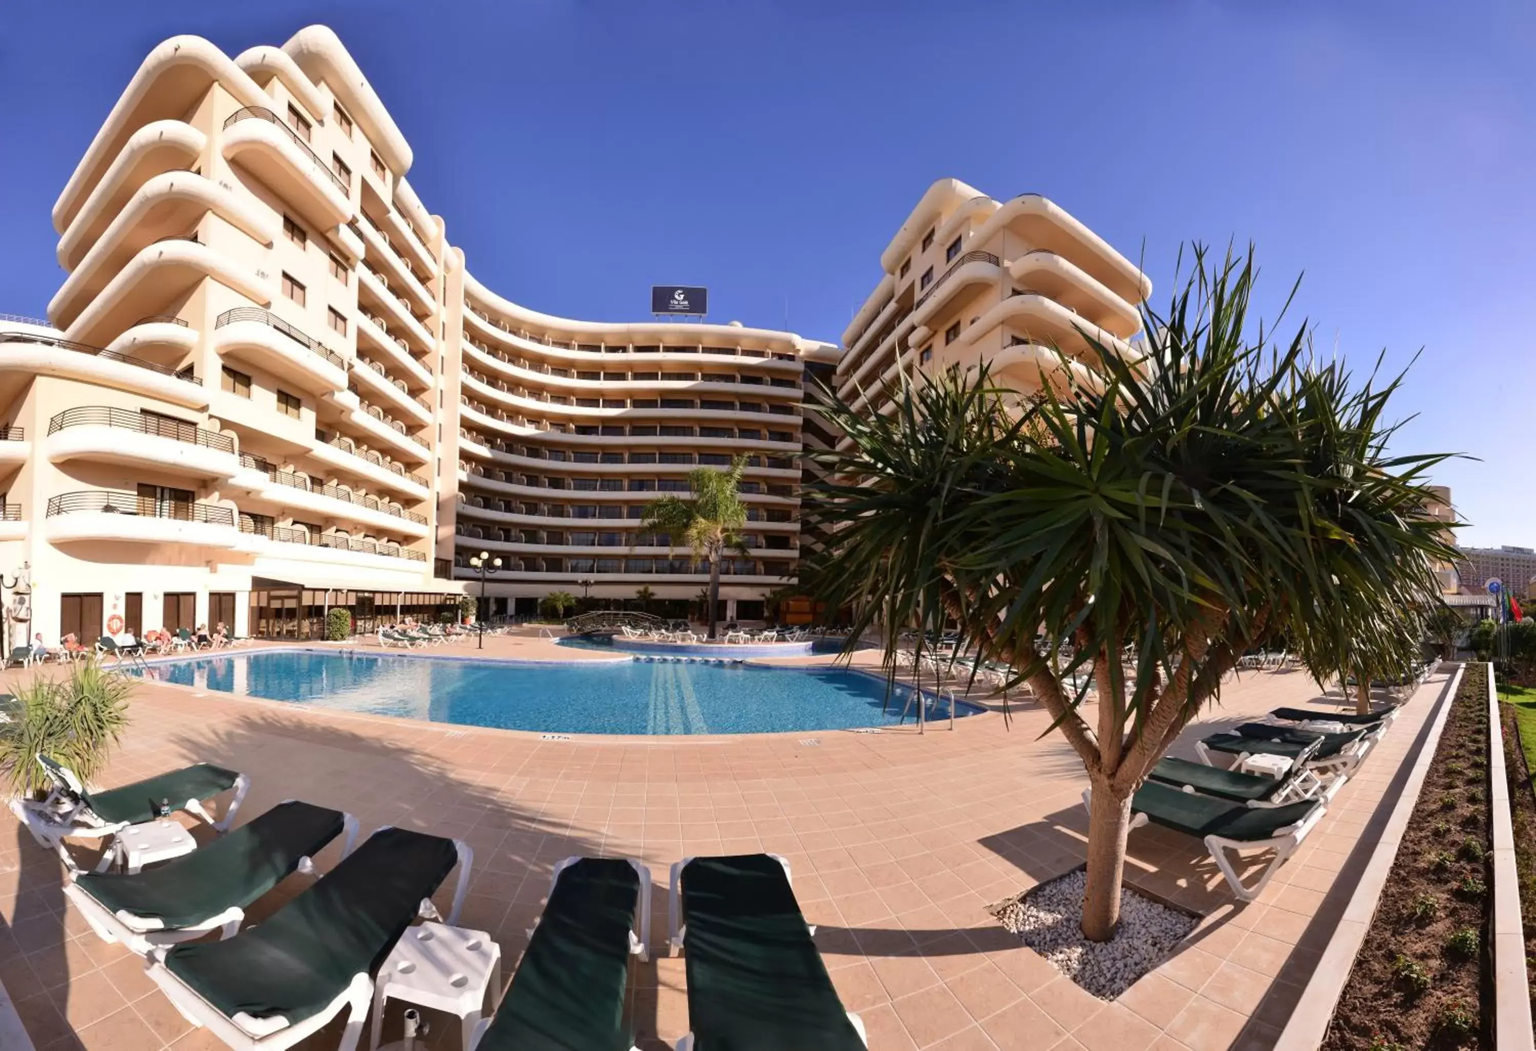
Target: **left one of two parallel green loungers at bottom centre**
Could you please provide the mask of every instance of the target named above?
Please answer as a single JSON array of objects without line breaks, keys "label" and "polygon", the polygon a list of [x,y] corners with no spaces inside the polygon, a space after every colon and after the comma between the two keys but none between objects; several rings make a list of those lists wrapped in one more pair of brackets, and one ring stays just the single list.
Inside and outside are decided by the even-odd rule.
[{"label": "left one of two parallel green loungers at bottom centre", "polygon": [[630,957],[645,959],[651,875],[637,861],[567,858],[554,870],[511,988],[473,1051],[630,1051]]}]

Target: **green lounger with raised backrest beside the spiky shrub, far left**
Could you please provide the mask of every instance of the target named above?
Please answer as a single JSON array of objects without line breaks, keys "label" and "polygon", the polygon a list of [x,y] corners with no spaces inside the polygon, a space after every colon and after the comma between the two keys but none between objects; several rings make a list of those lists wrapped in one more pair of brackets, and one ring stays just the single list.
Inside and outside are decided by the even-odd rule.
[{"label": "green lounger with raised backrest beside the spiky shrub, far left", "polygon": [[[65,839],[112,839],[129,825],[158,818],[161,806],[169,812],[184,810],[195,815],[223,833],[233,822],[246,792],[250,790],[250,778],[246,775],[210,763],[198,763],[121,789],[88,792],[80,776],[57,759],[38,755],[37,763],[51,782],[48,798],[41,802],[12,799],[11,812],[22,819],[38,844],[58,852],[69,871],[78,871],[78,865]],[[229,790],[235,795],[224,809],[223,819],[215,821],[203,804]],[[118,858],[115,848],[108,848],[97,871],[106,871]]]}]

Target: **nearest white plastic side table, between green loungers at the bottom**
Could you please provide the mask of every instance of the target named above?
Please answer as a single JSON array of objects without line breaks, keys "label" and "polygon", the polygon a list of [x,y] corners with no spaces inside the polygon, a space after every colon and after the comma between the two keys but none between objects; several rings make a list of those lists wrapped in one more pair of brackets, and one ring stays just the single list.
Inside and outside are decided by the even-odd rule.
[{"label": "nearest white plastic side table, between green loungers at the bottom", "polygon": [[501,945],[490,934],[447,924],[412,927],[395,944],[373,983],[370,1051],[379,1045],[387,999],[459,1016],[464,1020],[464,1051],[468,1051],[492,982],[501,985]]}]

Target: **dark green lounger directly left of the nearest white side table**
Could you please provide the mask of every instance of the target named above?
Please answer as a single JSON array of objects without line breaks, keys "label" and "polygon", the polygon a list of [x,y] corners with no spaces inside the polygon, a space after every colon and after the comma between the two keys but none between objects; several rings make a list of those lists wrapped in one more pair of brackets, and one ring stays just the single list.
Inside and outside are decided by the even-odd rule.
[{"label": "dark green lounger directly left of the nearest white side table", "polygon": [[467,844],[379,829],[266,922],[223,942],[157,948],[149,977],[189,1020],[232,1048],[287,1048],[350,1005],[343,1051],[356,1046],[373,974],[459,867],[449,922],[468,887]]}]

